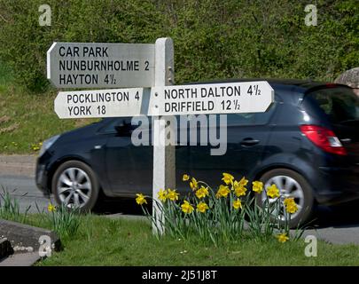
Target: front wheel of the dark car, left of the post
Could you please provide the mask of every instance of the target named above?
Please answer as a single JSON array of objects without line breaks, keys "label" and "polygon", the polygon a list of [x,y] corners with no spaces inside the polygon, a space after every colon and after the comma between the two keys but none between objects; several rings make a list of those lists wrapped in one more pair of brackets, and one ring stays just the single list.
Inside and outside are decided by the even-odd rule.
[{"label": "front wheel of the dark car, left of the post", "polygon": [[69,209],[90,211],[98,201],[98,192],[98,178],[83,162],[64,162],[52,178],[52,193],[56,202]]}]

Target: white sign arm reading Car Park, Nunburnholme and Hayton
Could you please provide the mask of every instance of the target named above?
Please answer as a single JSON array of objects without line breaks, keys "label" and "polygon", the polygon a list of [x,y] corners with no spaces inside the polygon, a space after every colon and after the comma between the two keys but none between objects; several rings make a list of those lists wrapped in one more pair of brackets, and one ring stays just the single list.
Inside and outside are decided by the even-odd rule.
[{"label": "white sign arm reading Car Park, Nunburnholme and Hayton", "polygon": [[47,78],[57,88],[152,87],[154,44],[53,43]]}]

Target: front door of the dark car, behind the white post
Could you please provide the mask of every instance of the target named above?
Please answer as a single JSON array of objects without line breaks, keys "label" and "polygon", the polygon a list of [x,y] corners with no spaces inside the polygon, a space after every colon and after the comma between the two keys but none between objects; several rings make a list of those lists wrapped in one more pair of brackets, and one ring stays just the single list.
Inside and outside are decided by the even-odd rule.
[{"label": "front door of the dark car, behind the white post", "polygon": [[[177,117],[178,118],[178,117]],[[136,146],[131,139],[137,125],[130,126],[131,118],[118,118],[105,128],[107,141],[105,146],[105,169],[107,181],[114,195],[133,195],[145,193],[152,195],[153,147],[152,118],[142,117],[147,123],[141,130],[149,138],[147,146]],[[127,125],[120,129],[118,126]],[[116,128],[118,130],[116,130]],[[181,128],[177,124],[177,137]],[[188,131],[188,130],[185,130]],[[176,189],[188,190],[188,183],[182,182],[183,173],[189,171],[190,149],[186,143],[176,146]]]}]

